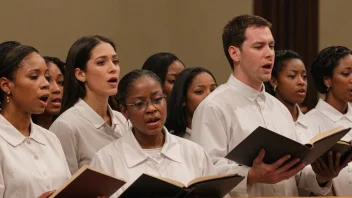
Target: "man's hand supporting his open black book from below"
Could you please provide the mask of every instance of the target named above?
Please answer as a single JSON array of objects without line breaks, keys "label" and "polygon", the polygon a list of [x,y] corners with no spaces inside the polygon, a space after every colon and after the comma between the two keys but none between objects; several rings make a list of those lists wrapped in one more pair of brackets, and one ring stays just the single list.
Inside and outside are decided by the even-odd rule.
[{"label": "man's hand supporting his open black book from below", "polygon": [[[305,164],[303,162],[300,163],[300,159],[298,158],[287,162],[291,158],[289,155],[280,158],[273,164],[265,164],[263,162],[264,156],[265,151],[262,149],[248,172],[248,184],[276,184],[293,177],[305,167]],[[287,163],[283,165],[285,162]],[[295,165],[297,166],[294,167]]]}]

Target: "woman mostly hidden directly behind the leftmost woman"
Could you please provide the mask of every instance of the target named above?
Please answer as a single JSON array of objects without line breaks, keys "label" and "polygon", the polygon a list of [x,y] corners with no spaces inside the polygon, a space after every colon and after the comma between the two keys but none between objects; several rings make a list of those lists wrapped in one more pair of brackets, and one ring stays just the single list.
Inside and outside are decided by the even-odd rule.
[{"label": "woman mostly hidden directly behind the leftmost woman", "polygon": [[44,56],[50,75],[50,96],[44,113],[32,115],[32,120],[39,126],[49,129],[55,118],[60,114],[64,89],[65,63],[59,58]]}]

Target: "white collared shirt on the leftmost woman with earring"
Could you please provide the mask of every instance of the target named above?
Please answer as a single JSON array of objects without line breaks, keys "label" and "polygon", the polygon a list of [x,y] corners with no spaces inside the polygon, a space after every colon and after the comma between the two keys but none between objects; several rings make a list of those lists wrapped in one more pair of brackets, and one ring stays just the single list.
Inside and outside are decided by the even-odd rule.
[{"label": "white collared shirt on the leftmost woman with earring", "polygon": [[25,137],[0,115],[0,197],[34,198],[71,176],[60,141],[31,123]]}]

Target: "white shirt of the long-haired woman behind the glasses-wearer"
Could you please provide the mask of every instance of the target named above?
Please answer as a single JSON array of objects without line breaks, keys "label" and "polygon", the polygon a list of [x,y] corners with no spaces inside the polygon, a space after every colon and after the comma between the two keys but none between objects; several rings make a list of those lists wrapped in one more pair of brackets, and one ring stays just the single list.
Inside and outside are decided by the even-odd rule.
[{"label": "white shirt of the long-haired woman behind the glasses-wearer", "polygon": [[111,126],[80,99],[51,125],[49,130],[59,138],[72,174],[89,164],[99,149],[122,137],[127,130],[127,120],[121,113],[111,110],[110,106],[108,113]]}]

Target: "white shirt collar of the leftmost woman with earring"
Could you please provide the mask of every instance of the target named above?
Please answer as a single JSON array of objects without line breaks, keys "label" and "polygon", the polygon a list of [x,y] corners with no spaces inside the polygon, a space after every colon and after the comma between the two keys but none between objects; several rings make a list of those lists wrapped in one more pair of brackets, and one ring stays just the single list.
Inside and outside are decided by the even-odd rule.
[{"label": "white shirt collar of the leftmost woman with earring", "polygon": [[[2,115],[0,115],[0,136],[4,138],[6,142],[16,147],[20,145],[27,137],[22,135],[9,121],[7,121]],[[31,134],[30,139],[45,145],[44,139],[40,136],[40,131],[37,125],[31,121]]]}]

